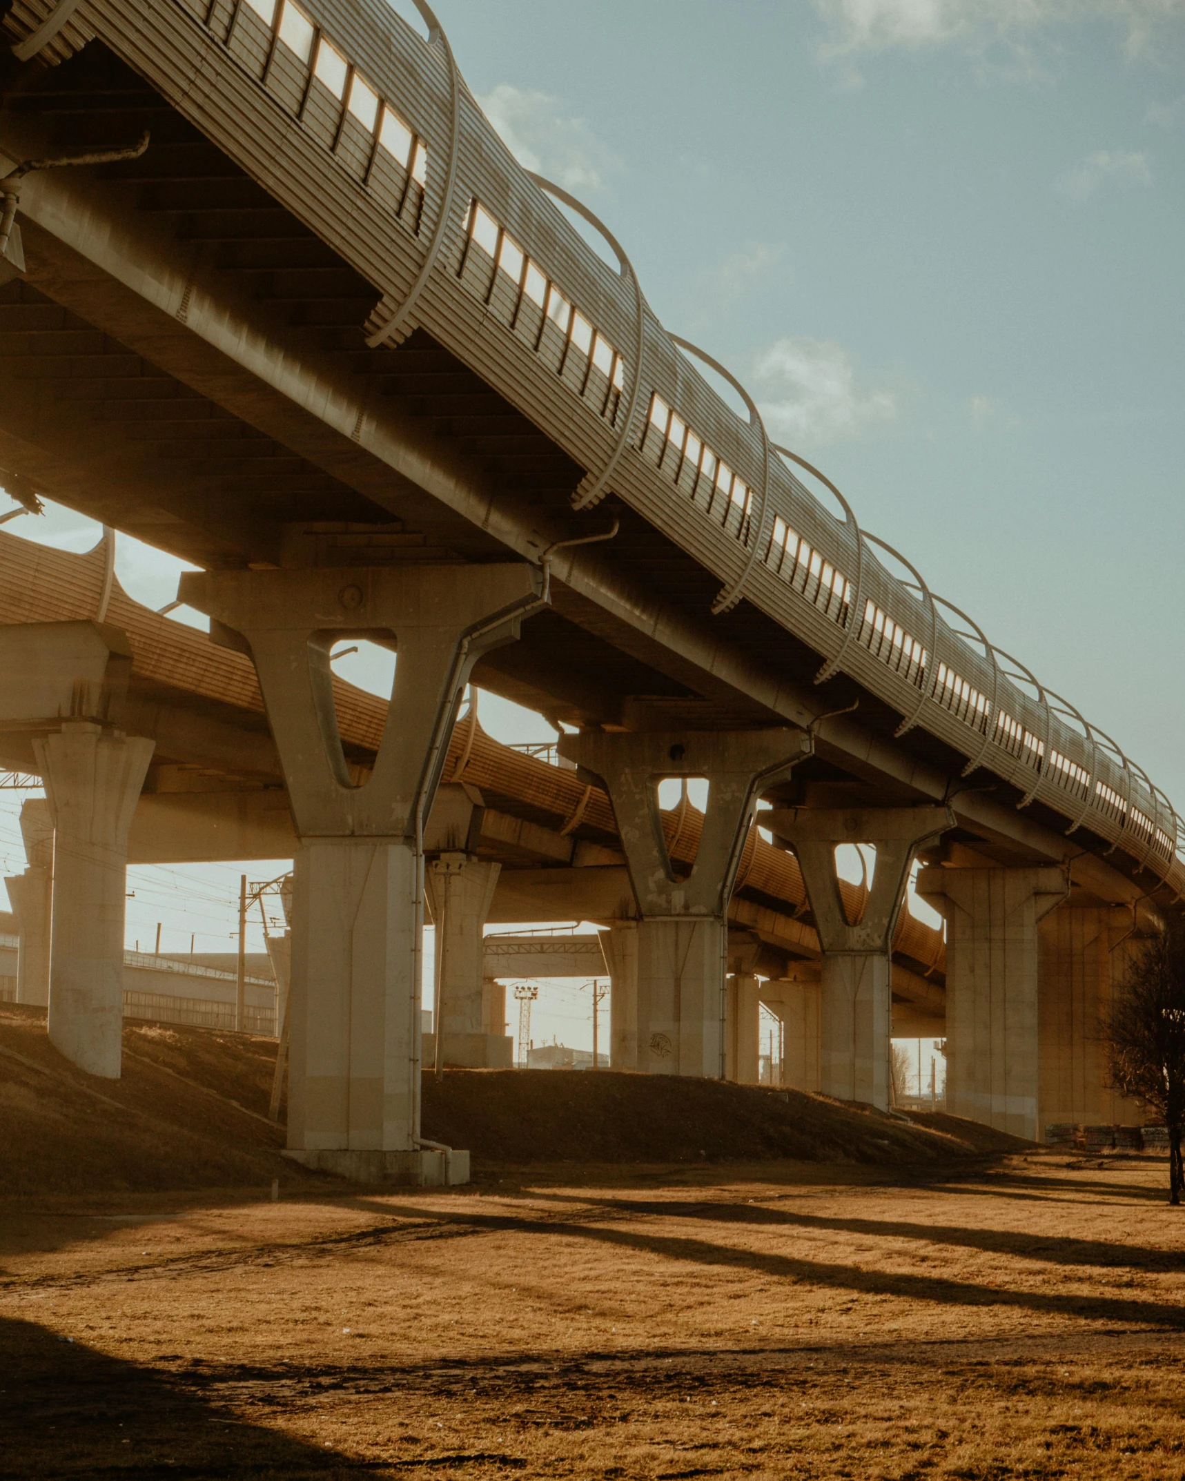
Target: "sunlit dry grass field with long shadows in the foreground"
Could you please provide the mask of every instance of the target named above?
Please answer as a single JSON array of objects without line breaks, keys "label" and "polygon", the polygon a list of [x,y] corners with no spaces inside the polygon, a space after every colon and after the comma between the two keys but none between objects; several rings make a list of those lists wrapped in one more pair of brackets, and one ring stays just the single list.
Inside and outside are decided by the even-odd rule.
[{"label": "sunlit dry grass field with long shadows in the foreground", "polygon": [[1154,1158],[0,1201],[0,1477],[1185,1477]]}]

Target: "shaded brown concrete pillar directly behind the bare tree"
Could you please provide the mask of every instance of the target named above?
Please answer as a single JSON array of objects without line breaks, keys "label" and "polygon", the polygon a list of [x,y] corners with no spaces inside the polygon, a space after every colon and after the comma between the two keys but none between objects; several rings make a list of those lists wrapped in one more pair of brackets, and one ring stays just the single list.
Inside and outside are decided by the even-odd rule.
[{"label": "shaded brown concrete pillar directly behind the bare tree", "polygon": [[1099,1029],[1154,920],[1146,906],[1061,905],[1037,927],[1037,1139],[1056,1123],[1139,1126],[1144,1111],[1108,1086]]}]

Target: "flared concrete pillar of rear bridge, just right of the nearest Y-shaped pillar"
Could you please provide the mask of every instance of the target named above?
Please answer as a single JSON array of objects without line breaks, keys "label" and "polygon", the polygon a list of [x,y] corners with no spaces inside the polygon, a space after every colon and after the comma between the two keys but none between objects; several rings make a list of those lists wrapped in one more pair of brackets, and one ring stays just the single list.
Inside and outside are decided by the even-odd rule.
[{"label": "flared concrete pillar of rear bridge, just right of the nearest Y-shaped pillar", "polygon": [[[443,1063],[464,1069],[511,1069],[513,1040],[484,1025],[484,924],[501,863],[467,853],[441,853],[428,865],[425,887],[435,926],[435,998]],[[504,1000],[505,1001],[505,1000]]]}]

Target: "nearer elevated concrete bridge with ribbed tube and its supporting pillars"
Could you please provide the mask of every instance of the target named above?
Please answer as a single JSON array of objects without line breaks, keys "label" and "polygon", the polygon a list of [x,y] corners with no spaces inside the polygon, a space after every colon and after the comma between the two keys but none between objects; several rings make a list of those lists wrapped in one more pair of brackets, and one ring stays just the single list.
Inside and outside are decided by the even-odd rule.
[{"label": "nearer elevated concrete bridge with ribbed tube and its supporting pillars", "polygon": [[[1108,932],[1130,951],[1141,912],[1179,899],[1170,803],[837,490],[828,512],[744,388],[748,421],[729,409],[693,361],[727,372],[511,158],[421,9],[428,40],[379,0],[15,0],[3,21],[19,235],[3,228],[0,467],[201,566],[187,600],[253,658],[302,843],[293,1154],[435,1166],[415,1075],[425,828],[470,677],[581,727],[563,748],[607,791],[637,918],[637,1068],[720,1072],[729,902],[766,795],[822,949],[822,1089],[886,1100],[921,850],[951,932],[952,1108],[1025,1134],[1101,1114],[1081,1023],[1109,991]],[[366,786],[329,678],[332,640],[357,634],[400,653]],[[121,855],[160,740],[118,730],[98,690],[12,720],[59,837],[107,819],[79,841],[79,890],[114,961],[99,855]],[[664,776],[710,782],[686,874]],[[840,843],[877,850],[859,918]],[[483,895],[468,863],[438,881],[446,914]],[[1077,923],[1056,991],[1043,912]],[[65,937],[55,955],[52,1032],[81,1052],[116,969]]]}]

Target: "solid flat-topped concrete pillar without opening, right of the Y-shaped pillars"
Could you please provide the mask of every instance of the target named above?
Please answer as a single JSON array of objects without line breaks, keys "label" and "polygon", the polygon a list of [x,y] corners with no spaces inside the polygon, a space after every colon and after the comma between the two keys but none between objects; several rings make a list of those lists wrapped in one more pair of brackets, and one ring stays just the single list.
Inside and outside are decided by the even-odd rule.
[{"label": "solid flat-topped concrete pillar without opening, right of the Y-shaped pillars", "polygon": [[947,1109],[1038,1134],[1038,921],[1066,896],[1061,869],[921,869],[947,918]]}]

